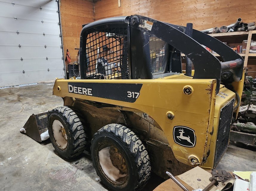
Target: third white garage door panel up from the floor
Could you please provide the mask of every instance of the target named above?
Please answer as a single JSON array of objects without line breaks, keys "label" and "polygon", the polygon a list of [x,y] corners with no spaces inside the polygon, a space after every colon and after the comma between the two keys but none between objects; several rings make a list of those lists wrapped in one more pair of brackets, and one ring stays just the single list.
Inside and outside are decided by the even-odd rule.
[{"label": "third white garage door panel up from the floor", "polygon": [[[0,60],[20,60],[36,58],[61,58],[62,49],[60,47],[4,47],[0,46]],[[15,52],[15,54],[14,54]],[[61,56],[61,57],[60,57]]]}]

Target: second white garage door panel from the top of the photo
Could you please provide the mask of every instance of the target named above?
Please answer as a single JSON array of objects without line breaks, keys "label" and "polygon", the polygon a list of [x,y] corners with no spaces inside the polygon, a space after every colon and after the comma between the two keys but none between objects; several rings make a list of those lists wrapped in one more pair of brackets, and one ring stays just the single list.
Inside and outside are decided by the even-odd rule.
[{"label": "second white garage door panel from the top of the photo", "polygon": [[57,9],[55,11],[47,9],[38,9],[22,5],[13,6],[10,3],[2,3],[0,7],[0,17],[16,17],[17,19],[37,20],[44,22],[58,23],[59,18]]}]

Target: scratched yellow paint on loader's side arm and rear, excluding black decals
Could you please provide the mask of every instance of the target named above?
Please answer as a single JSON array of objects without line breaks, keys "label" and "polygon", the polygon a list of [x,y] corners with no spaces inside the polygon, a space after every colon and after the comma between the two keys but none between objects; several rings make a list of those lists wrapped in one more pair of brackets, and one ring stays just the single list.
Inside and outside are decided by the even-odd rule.
[{"label": "scratched yellow paint on loader's side arm and rear, excluding black decals", "polygon": [[[137,100],[134,103],[129,103],[69,93],[68,82],[142,84],[142,88]],[[192,94],[184,94],[183,87],[186,85],[193,87]],[[58,86],[61,88],[60,91],[57,90]],[[164,131],[177,160],[190,165],[188,157],[195,155],[202,162],[210,149],[207,162],[201,165],[205,168],[212,168],[220,108],[226,101],[235,98],[235,93],[222,87],[220,91],[228,95],[228,98],[223,101],[221,97],[215,95],[215,88],[215,79],[57,79],[53,87],[53,94],[62,98],[68,96],[97,101],[147,113]],[[169,111],[175,115],[173,120],[166,117],[166,113]],[[174,142],[173,128],[179,125],[195,130],[195,147],[183,147]],[[215,130],[214,134],[210,135],[212,127]]]}]

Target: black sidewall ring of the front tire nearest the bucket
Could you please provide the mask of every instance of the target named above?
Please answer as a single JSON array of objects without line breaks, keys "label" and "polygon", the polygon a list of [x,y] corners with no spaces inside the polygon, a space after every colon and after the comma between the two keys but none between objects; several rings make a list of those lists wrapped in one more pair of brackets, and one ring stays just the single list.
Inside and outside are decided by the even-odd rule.
[{"label": "black sidewall ring of the front tire nearest the bucket", "polygon": [[[60,149],[54,139],[53,136],[53,131],[52,131],[52,123],[54,122],[54,120],[59,120],[64,129],[66,130],[66,135],[67,135],[67,147],[65,149]],[[74,145],[72,144],[74,142],[74,138],[71,136],[70,130],[68,128],[68,124],[66,123],[66,121],[63,119],[63,117],[56,113],[56,112],[52,112],[49,116],[48,119],[48,132],[49,132],[49,136],[50,136],[50,140],[52,142],[53,147],[55,148],[55,150],[59,153],[59,155],[61,155],[62,157],[65,158],[70,158],[70,153],[74,150]]]}]

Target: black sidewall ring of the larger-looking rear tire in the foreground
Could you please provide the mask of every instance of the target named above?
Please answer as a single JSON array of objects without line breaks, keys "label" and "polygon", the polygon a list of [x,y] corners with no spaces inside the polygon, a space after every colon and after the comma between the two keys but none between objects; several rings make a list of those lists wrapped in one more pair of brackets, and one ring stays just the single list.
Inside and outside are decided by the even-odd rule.
[{"label": "black sidewall ring of the larger-looking rear tire in the foreground", "polygon": [[[114,143],[115,147],[117,147],[118,151],[124,158],[129,175],[123,183],[116,184],[115,187],[113,187],[113,184],[111,184],[106,179],[106,175],[104,175],[104,172],[101,168],[98,155],[99,151],[102,149],[100,148],[101,145],[104,143],[110,143],[110,141],[111,143]],[[127,145],[117,136],[108,132],[102,132],[94,137],[93,142],[91,143],[91,158],[94,168],[101,181],[111,190],[134,190],[134,188],[138,184],[137,180],[139,179],[139,174],[136,168],[136,163],[134,162],[135,159],[133,157],[133,154],[130,152]]]}]

